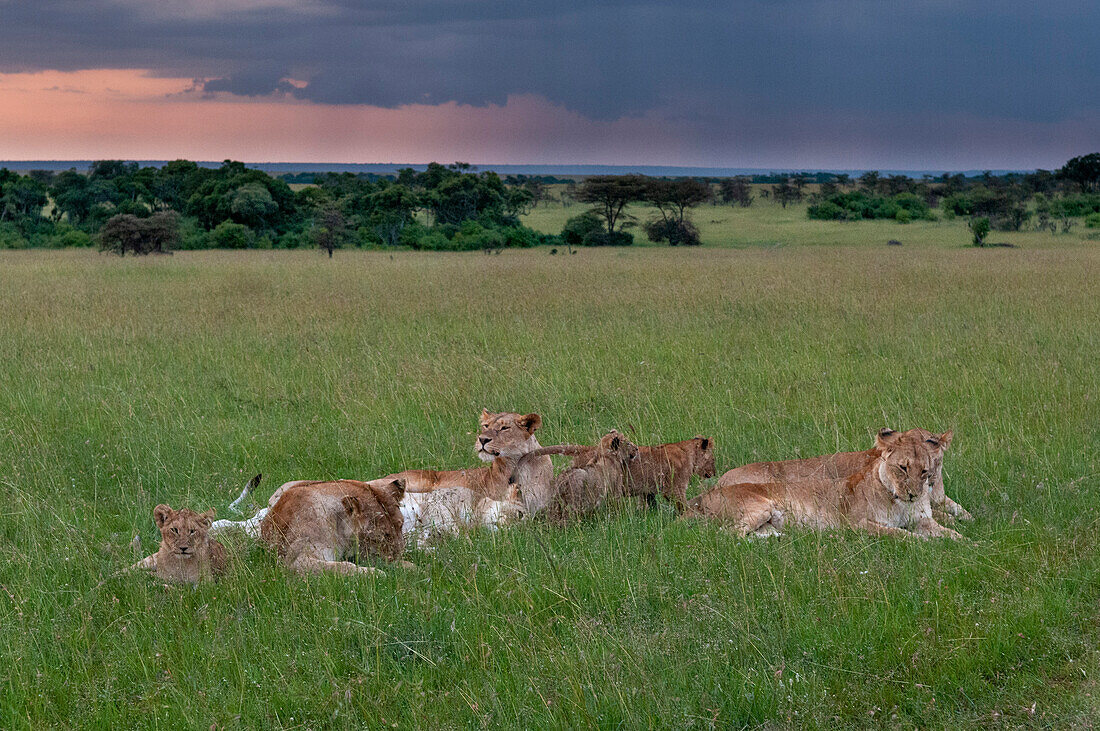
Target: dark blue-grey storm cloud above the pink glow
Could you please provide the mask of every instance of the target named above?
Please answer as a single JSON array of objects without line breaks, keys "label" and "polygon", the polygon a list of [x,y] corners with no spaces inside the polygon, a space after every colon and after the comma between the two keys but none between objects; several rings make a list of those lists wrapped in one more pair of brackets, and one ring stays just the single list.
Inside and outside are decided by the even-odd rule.
[{"label": "dark blue-grey storm cloud above the pink glow", "polygon": [[1053,122],[1098,109],[1097,27],[1085,0],[0,0],[0,68],[150,68],[383,107],[534,93],[718,129],[747,110]]}]

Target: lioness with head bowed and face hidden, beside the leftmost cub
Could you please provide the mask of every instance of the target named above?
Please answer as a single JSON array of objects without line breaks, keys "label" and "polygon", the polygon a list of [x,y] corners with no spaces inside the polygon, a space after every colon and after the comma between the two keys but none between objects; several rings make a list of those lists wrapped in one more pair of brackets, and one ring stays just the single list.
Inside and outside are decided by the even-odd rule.
[{"label": "lioness with head bowed and face hidden, beside the leftmost cub", "polygon": [[378,573],[353,560],[400,558],[405,551],[400,509],[404,496],[402,479],[382,486],[351,479],[297,483],[271,506],[260,523],[260,538],[299,573]]}]

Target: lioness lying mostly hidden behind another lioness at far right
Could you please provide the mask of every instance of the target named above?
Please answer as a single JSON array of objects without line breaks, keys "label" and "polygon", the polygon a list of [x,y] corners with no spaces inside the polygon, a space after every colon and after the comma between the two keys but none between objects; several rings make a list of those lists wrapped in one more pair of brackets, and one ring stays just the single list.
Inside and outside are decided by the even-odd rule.
[{"label": "lioness lying mostly hidden behind another lioness at far right", "polygon": [[[924,429],[910,429],[906,432],[895,432],[884,429],[880,434],[886,436],[898,434],[902,439],[915,439],[925,442],[932,447],[934,454],[931,496],[933,517],[941,518],[942,516],[949,514],[963,520],[970,520],[970,513],[944,492],[944,452],[950,445],[954,432],[947,431],[943,434],[933,434]],[[862,468],[870,451],[840,452],[820,457],[785,459],[783,462],[757,462],[735,467],[725,473],[718,479],[718,486],[737,485],[739,483],[810,484],[825,479],[846,479]]]}]

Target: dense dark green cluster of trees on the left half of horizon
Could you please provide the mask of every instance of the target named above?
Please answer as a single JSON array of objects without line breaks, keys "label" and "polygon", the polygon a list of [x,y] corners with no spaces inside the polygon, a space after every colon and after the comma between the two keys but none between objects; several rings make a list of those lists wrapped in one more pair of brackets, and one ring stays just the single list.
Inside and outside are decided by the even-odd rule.
[{"label": "dense dark green cluster of trees on the left half of horizon", "polygon": [[243,163],[205,168],[101,160],[87,174],[0,169],[0,247],[174,248],[395,246],[480,250],[557,241],[520,223],[535,195],[495,173],[431,164],[395,178],[327,174],[293,190]]}]

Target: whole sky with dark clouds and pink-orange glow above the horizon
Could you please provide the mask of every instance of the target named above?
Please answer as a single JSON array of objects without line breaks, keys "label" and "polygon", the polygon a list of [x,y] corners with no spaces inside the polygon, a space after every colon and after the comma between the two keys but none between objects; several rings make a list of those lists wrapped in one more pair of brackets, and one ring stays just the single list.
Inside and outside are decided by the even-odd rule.
[{"label": "whole sky with dark clouds and pink-orange glow above the horizon", "polygon": [[0,0],[0,159],[1057,168],[1094,0]]}]

